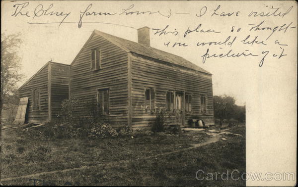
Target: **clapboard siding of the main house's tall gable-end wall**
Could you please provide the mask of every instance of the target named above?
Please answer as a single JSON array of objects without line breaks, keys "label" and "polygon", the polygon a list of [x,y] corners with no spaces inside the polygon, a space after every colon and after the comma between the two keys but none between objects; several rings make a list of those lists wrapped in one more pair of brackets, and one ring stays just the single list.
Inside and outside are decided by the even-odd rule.
[{"label": "clapboard siding of the main house's tall gable-end wall", "polygon": [[[100,48],[101,68],[91,71],[91,50]],[[93,33],[74,59],[70,70],[70,96],[94,101],[97,89],[109,88],[109,114],[102,118],[115,127],[128,124],[128,54]],[[84,114],[82,109],[77,109]]]}]

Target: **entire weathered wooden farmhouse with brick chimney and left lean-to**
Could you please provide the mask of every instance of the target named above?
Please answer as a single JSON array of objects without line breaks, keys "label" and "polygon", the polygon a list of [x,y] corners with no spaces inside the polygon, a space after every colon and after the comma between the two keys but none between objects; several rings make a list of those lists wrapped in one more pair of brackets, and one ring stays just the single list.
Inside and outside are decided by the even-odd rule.
[{"label": "entire weathered wooden farmhouse with brick chimney and left lean-to", "polygon": [[135,43],[94,30],[70,65],[48,62],[19,88],[16,122],[54,120],[62,100],[74,97],[95,100],[98,115],[114,127],[149,127],[161,108],[172,124],[213,125],[211,73],[150,47],[149,33],[138,29]]}]

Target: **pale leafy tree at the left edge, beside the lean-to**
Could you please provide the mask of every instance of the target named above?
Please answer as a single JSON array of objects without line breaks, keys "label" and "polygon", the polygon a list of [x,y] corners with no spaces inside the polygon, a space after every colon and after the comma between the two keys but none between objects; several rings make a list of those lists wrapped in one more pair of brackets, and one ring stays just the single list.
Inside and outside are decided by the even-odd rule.
[{"label": "pale leafy tree at the left edge, beside the lean-to", "polygon": [[9,109],[9,104],[17,104],[17,83],[23,77],[17,49],[22,43],[20,34],[1,34],[1,110]]}]

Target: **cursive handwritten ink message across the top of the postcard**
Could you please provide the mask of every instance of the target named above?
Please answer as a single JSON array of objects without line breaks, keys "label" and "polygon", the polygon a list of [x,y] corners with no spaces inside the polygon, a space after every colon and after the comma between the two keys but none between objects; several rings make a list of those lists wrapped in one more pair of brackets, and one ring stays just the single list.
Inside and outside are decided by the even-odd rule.
[{"label": "cursive handwritten ink message across the top of the postcard", "polygon": [[[86,6],[79,7],[79,10],[72,10],[67,6],[55,5],[55,3],[31,5],[28,1],[13,4],[11,16],[23,16],[28,24],[57,24],[59,26],[77,24],[78,28],[81,28],[83,23],[134,28],[131,25],[118,23],[117,20],[123,16],[127,19],[136,16],[163,19],[168,23],[162,22],[159,27],[151,27],[155,32],[154,36],[159,37],[159,41],[166,47],[199,47],[197,55],[202,59],[202,63],[206,63],[210,58],[256,58],[257,60],[254,61],[258,61],[259,66],[262,67],[269,57],[279,60],[288,55],[288,44],[283,41],[282,36],[297,28],[293,21],[287,20],[287,16],[292,13],[293,6],[279,7],[268,3],[263,7],[233,10],[221,4],[215,6],[207,6],[203,2],[201,4],[190,11],[181,11],[171,7],[144,8],[135,4],[112,8],[102,6],[102,4],[99,6],[97,3],[86,3]],[[250,22],[238,25],[230,21],[243,18],[249,19]],[[268,20],[269,18],[278,21],[272,22]],[[179,22],[173,23],[176,19],[196,19],[197,23],[182,26]],[[220,27],[219,23],[213,25],[205,22],[205,20],[213,19],[224,21],[224,27]],[[213,35],[218,37],[207,37]],[[167,36],[171,36],[171,39],[167,39]]]}]

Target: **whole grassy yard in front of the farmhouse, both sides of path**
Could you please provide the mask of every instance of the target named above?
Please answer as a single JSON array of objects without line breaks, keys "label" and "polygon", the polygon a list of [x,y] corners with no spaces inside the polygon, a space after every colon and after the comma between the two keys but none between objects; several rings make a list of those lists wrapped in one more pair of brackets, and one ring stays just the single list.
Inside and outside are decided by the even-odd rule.
[{"label": "whole grassy yard in front of the farmhouse, both sides of path", "polygon": [[[217,142],[156,157],[156,154],[193,147],[212,135],[204,130],[179,135],[156,133],[139,138],[41,140],[20,136],[17,131],[1,132],[1,180],[94,167],[1,181],[3,185],[33,185],[32,179],[38,179],[37,185],[245,186],[243,180],[196,179],[198,170],[213,174],[231,173],[233,169],[245,172],[245,126],[227,130],[242,136],[218,135]],[[123,160],[132,161],[96,166]]]}]

